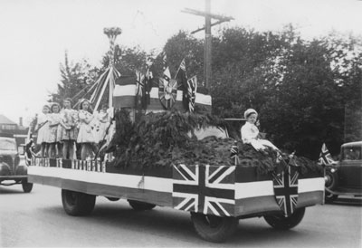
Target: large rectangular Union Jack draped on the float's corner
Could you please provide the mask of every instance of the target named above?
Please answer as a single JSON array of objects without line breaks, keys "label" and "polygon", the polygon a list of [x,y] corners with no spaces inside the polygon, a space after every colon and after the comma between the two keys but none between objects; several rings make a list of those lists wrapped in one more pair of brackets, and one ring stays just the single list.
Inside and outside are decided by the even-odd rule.
[{"label": "large rectangular Union Jack draped on the float's corner", "polygon": [[174,166],[174,208],[205,215],[233,215],[234,170],[226,166]]}]

